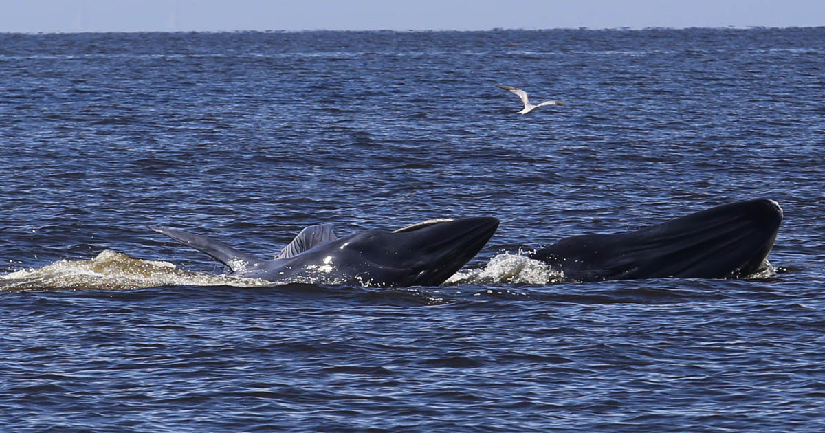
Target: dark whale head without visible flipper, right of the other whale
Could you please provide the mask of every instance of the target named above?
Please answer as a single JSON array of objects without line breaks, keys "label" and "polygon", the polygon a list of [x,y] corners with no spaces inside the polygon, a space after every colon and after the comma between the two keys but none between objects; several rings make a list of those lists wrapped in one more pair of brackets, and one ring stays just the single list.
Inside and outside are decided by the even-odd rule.
[{"label": "dark whale head without visible flipper, right of the other whale", "polygon": [[773,200],[747,200],[615,234],[564,238],[529,257],[573,280],[737,278],[761,266],[782,222]]}]

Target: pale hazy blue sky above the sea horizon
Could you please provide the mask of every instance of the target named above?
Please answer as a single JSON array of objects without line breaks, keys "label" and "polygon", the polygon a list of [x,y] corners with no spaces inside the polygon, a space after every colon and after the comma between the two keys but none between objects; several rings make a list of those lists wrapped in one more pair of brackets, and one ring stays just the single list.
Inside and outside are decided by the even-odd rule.
[{"label": "pale hazy blue sky above the sea horizon", "polygon": [[0,32],[825,26],[825,0],[0,0]]}]

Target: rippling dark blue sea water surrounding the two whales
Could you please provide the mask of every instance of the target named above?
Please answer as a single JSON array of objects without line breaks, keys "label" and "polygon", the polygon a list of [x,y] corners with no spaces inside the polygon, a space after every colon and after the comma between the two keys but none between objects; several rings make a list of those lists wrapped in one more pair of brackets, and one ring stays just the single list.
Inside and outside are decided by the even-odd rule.
[{"label": "rippling dark blue sea water surrounding the two whales", "polygon": [[[0,35],[0,431],[823,431],[825,28]],[[530,115],[524,88],[543,107]],[[562,282],[521,247],[776,200],[772,271]],[[272,257],[490,215],[439,287]],[[472,271],[476,269],[476,271]]]}]

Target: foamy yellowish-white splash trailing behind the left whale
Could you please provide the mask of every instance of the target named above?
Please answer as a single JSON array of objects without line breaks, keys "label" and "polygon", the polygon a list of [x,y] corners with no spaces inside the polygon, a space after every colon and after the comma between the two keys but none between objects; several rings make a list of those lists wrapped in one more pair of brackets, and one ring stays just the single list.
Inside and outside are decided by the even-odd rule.
[{"label": "foamy yellowish-white splash trailing behind the left whale", "polygon": [[271,285],[266,280],[183,271],[167,261],[133,259],[106,250],[92,260],[55,261],[0,275],[0,293],[23,290],[143,289],[161,285]]}]

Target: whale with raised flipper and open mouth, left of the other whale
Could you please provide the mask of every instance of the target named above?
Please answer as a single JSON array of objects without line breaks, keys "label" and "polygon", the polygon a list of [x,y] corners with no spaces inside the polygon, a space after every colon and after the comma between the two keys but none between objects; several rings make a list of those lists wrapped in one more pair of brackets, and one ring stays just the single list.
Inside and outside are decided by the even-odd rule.
[{"label": "whale with raised flipper and open mouth, left of the other whale", "polygon": [[304,228],[272,260],[177,228],[149,226],[213,257],[229,275],[273,283],[408,287],[441,285],[481,251],[498,219],[431,219],[394,231],[337,238],[333,224]]}]

